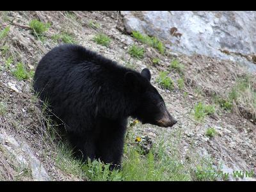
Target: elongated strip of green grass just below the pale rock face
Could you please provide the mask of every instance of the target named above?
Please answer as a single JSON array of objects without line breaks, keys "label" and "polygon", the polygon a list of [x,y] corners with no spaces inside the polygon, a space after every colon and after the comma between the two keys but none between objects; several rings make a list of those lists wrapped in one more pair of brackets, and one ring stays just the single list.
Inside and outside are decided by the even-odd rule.
[{"label": "elongated strip of green grass just below the pale rock face", "polygon": [[150,37],[148,35],[142,35],[139,31],[132,31],[132,36],[141,43],[150,45],[151,47],[157,49],[161,54],[164,54],[164,45],[155,36]]}]

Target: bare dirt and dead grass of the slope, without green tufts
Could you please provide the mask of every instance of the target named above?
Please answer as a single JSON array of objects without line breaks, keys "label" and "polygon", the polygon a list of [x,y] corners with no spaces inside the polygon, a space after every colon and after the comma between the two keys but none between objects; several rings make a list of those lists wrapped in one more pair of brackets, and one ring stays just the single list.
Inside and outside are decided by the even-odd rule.
[{"label": "bare dirt and dead grass of the slope, without green tufts", "polygon": [[[179,137],[179,142],[176,142],[175,146],[180,150],[181,159],[184,161],[189,157],[196,157],[194,154],[196,153],[200,157],[211,157],[214,166],[222,163],[223,172],[247,170],[256,173],[255,124],[236,113],[227,111],[206,116],[204,122],[197,122],[193,118],[193,109],[198,101],[203,100],[206,104],[210,104],[212,93],[223,94],[232,88],[236,77],[243,76],[244,70],[236,63],[214,60],[200,55],[176,56],[172,50],[166,50],[167,54],[161,55],[148,46],[145,46],[146,56],[143,60],[132,58],[128,53],[129,45],[140,43],[125,33],[122,17],[117,12],[71,12],[72,17],[67,16],[65,12],[8,12],[4,14],[0,16],[1,30],[10,26],[10,33],[4,40],[1,40],[1,46],[8,45],[10,54],[14,55],[11,68],[15,67],[15,63],[22,61],[27,70],[35,70],[38,60],[52,47],[61,43],[54,42],[51,36],[63,30],[68,31],[74,34],[77,44],[118,61],[120,65],[134,67],[136,70],[148,67],[152,71],[152,84],[163,95],[167,108],[179,122],[173,129],[138,125],[137,129],[132,131],[138,135],[148,135],[153,140],[164,134],[166,141],[173,143],[175,142],[168,138]],[[45,33],[47,38],[44,42],[31,35],[31,29],[28,27],[31,19],[51,22],[51,28]],[[91,21],[97,22],[99,28],[93,28]],[[99,32],[111,37],[109,47],[93,42],[93,36]],[[156,57],[160,58],[160,62],[154,65],[152,58]],[[55,143],[45,142],[44,116],[33,96],[31,77],[18,81],[12,72],[4,67],[7,58],[8,56],[3,56],[3,49],[1,49],[0,101],[6,105],[6,113],[0,114],[0,133],[13,136],[17,141],[28,143],[32,153],[43,164],[52,180],[80,180],[56,166],[55,159],[58,154],[54,148],[57,146]],[[166,71],[173,59],[179,60],[185,67],[185,87],[184,90],[180,90],[177,84],[179,73],[170,72],[170,77],[175,82],[174,90],[170,92],[161,88],[156,79],[160,71]],[[200,87],[200,93],[195,91],[196,87]],[[184,94],[185,92],[187,94]],[[214,138],[207,137],[205,132],[209,127],[214,127],[219,134]],[[15,171],[9,171],[8,174],[11,176],[8,177],[6,173],[4,174],[3,165],[1,166],[1,163],[4,164],[3,161],[0,159],[0,168],[2,167],[1,170],[5,175],[2,179],[15,180],[16,177],[13,175],[21,172],[13,169]],[[0,180],[2,179],[0,177]],[[19,179],[35,180],[31,175],[25,175]],[[244,180],[251,179],[244,178]],[[230,177],[229,180],[235,179]]]}]

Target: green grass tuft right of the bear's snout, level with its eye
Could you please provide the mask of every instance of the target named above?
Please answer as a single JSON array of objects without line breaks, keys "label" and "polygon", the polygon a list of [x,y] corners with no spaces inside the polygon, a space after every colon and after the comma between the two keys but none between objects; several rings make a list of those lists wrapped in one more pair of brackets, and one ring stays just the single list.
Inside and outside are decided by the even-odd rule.
[{"label": "green grass tuft right of the bear's snout, level with its eye", "polygon": [[202,102],[198,102],[195,105],[194,115],[196,120],[203,120],[205,116],[215,113],[215,107],[212,105],[205,105]]}]

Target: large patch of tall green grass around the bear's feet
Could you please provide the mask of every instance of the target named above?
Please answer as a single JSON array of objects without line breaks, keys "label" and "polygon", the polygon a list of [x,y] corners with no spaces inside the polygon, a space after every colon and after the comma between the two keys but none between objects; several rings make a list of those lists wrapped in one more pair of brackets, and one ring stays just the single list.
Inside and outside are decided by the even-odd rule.
[{"label": "large patch of tall green grass around the bear's feet", "polygon": [[121,180],[190,180],[188,170],[176,157],[166,154],[164,145],[153,147],[147,155],[139,146],[125,146],[122,169],[108,169],[109,164],[98,160],[81,163],[72,157],[72,150],[61,145],[56,157],[56,165],[63,172],[79,179],[92,181]]}]

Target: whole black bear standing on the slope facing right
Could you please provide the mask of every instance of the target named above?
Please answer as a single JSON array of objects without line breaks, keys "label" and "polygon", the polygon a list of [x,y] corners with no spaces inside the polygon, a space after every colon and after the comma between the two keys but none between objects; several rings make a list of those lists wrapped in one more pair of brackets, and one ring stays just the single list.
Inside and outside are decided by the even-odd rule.
[{"label": "whole black bear standing on the slope facing right", "polygon": [[120,166],[127,118],[172,127],[164,100],[141,73],[122,67],[80,45],[49,51],[36,67],[33,88],[64,122],[67,139],[83,161],[100,159]]}]

